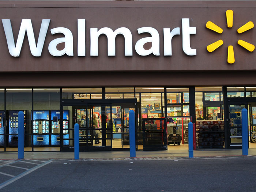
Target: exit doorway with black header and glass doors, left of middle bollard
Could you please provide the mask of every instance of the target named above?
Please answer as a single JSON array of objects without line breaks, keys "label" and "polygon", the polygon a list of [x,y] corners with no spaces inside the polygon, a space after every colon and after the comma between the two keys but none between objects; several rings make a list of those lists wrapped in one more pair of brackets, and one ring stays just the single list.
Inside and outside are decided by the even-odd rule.
[{"label": "exit doorway with black header and glass doors, left of middle bollard", "polygon": [[[106,101],[110,101],[106,103]],[[72,111],[70,128],[61,120],[61,151],[74,151],[74,126],[79,124],[80,151],[129,150],[129,110],[136,99],[97,100],[97,103],[67,102],[61,110]],[[64,101],[65,102],[65,101]]]}]

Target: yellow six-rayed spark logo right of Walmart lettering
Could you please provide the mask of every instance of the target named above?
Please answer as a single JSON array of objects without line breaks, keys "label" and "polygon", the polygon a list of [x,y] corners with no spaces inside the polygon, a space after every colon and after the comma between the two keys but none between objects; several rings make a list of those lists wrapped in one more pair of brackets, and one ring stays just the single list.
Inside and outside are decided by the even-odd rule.
[{"label": "yellow six-rayed spark logo right of Walmart lettering", "polygon": [[[227,10],[226,11],[226,18],[227,18],[227,27],[231,28],[233,27],[233,11],[232,10]],[[212,31],[215,31],[219,34],[221,34],[223,32],[222,28],[217,26],[216,24],[208,21],[206,23],[206,27]],[[242,32],[248,31],[251,28],[254,27],[253,22],[249,21],[248,23],[244,24],[242,27],[240,27],[237,32],[240,34]],[[241,39],[238,40],[238,45],[244,47],[245,49],[247,49],[248,51],[253,51],[255,49],[255,46],[252,45],[251,43],[248,43],[246,41],[242,41]],[[214,43],[212,43],[211,45],[207,46],[207,51],[212,52],[215,49],[217,49],[219,46],[221,46],[223,44],[222,39],[220,39],[219,41],[216,41]],[[233,46],[230,45],[227,48],[227,62],[229,64],[233,64],[235,62],[235,56],[234,56],[234,49]]]}]

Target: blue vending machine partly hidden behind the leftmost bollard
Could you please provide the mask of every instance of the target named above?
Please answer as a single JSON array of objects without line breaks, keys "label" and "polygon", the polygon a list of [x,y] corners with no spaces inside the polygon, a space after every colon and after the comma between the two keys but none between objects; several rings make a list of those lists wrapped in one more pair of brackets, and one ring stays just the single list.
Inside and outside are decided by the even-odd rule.
[{"label": "blue vending machine partly hidden behind the leftmost bollard", "polygon": [[[26,110],[9,110],[7,111],[7,127],[8,127],[8,146],[17,147],[18,146],[18,113],[19,111],[24,112],[24,133],[26,133]],[[2,118],[3,120],[3,118]],[[3,125],[3,124],[2,124]],[[24,138],[24,143],[26,143],[26,137]]]}]

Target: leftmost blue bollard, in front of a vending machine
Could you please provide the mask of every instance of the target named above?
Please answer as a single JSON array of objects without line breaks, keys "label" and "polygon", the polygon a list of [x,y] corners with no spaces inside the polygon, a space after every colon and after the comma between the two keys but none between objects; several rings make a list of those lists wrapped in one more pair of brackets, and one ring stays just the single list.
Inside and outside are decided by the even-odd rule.
[{"label": "leftmost blue bollard, in front of a vending machine", "polygon": [[24,112],[18,113],[18,159],[24,159]]}]

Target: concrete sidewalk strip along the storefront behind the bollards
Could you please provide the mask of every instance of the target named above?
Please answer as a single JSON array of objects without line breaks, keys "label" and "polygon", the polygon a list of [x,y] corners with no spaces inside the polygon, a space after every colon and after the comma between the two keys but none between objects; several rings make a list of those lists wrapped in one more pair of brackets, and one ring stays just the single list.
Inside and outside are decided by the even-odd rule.
[{"label": "concrete sidewalk strip along the storefront behind the bollards", "polygon": [[[249,155],[256,155],[256,149],[249,149]],[[195,150],[194,157],[242,155],[242,149]],[[80,158],[126,158],[129,151],[80,152]],[[188,157],[187,150],[136,151],[136,157]],[[0,153],[0,159],[17,159],[17,152]],[[73,152],[25,152],[25,159],[74,159]]]}]

